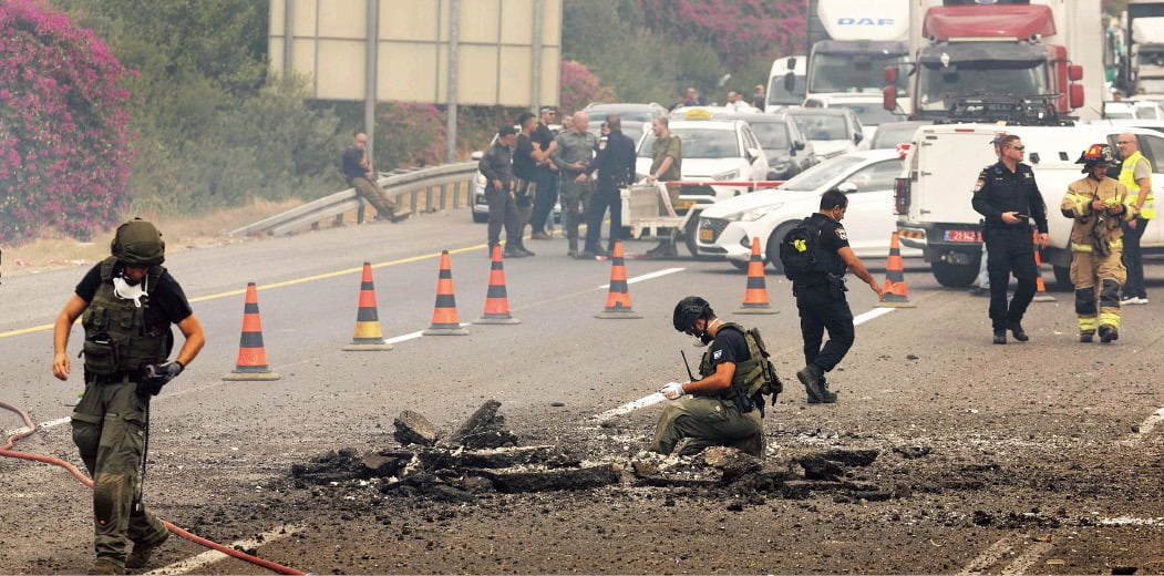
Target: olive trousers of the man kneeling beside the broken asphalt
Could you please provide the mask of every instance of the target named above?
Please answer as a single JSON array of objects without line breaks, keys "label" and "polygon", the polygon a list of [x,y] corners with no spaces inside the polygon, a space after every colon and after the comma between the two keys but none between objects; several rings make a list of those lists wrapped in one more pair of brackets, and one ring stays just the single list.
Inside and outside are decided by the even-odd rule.
[{"label": "olive trousers of the man kneeling beside the broken asphalt", "polygon": [[690,439],[683,454],[695,454],[709,446],[730,446],[753,456],[764,455],[764,421],[760,411],[741,414],[730,400],[686,396],[667,403],[651,451],[670,454],[680,440]]}]

